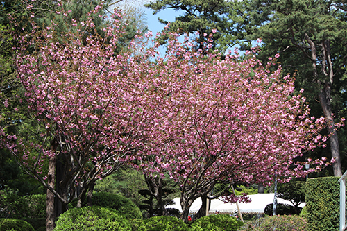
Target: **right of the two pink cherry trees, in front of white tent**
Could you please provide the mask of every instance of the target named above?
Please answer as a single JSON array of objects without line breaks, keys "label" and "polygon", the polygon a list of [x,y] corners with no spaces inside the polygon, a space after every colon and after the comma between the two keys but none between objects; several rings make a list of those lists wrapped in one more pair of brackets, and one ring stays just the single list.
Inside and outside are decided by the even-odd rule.
[{"label": "right of the two pink cherry trees, in front of white tent", "polygon": [[[310,117],[305,98],[294,94],[294,78],[280,67],[269,71],[278,55],[263,65],[255,51],[244,60],[237,54],[221,60],[193,46],[171,40],[167,57],[158,58],[152,139],[139,151],[147,175],[166,173],[179,183],[186,222],[194,200],[221,196],[209,195],[217,183],[266,185],[275,176],[305,176],[296,157],[327,139],[319,135],[324,119]],[[314,161],[310,171],[319,171],[325,160]]]}]

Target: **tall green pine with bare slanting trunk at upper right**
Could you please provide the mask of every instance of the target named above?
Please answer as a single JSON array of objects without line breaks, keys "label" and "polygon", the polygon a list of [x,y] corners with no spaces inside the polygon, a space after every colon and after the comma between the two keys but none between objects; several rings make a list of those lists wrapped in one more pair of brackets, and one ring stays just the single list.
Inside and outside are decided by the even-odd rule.
[{"label": "tall green pine with bare slanting trunk at upper right", "polygon": [[[310,102],[319,101],[330,124],[330,152],[335,158],[333,172],[341,176],[339,140],[335,119],[346,112],[346,22],[344,1],[249,1],[251,34],[248,38],[263,39],[263,58],[280,53],[285,71],[296,73],[296,85],[307,90]],[[266,57],[267,56],[267,57]],[[341,142],[340,142],[341,143]]]}]

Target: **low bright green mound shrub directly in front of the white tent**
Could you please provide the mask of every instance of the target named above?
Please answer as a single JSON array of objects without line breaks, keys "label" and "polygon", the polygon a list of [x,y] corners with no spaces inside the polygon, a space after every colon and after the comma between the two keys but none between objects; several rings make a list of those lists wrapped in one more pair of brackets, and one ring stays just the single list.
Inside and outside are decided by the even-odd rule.
[{"label": "low bright green mound shrub directly in front of the white tent", "polygon": [[233,216],[217,214],[203,216],[191,225],[192,230],[196,231],[235,231],[244,223]]}]

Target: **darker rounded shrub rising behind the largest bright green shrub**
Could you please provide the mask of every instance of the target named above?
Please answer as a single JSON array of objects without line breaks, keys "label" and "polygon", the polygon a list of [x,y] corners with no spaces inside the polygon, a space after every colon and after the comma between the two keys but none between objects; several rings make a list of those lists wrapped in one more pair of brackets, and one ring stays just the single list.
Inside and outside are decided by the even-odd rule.
[{"label": "darker rounded shrub rising behind the largest bright green shrub", "polygon": [[118,194],[95,193],[92,197],[93,205],[116,209],[126,219],[142,219],[139,207],[133,201]]}]

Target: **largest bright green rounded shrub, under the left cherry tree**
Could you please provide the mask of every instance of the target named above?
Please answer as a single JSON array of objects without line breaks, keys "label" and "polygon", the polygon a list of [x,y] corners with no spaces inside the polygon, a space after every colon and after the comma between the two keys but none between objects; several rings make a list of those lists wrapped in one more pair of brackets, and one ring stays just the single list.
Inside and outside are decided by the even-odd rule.
[{"label": "largest bright green rounded shrub, under the left cherry tree", "polygon": [[69,209],[56,221],[55,231],[128,231],[130,223],[114,209],[92,206]]}]

